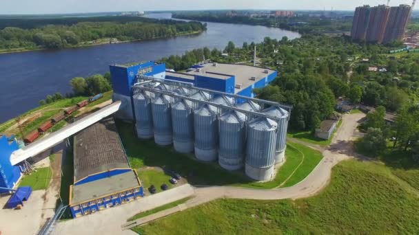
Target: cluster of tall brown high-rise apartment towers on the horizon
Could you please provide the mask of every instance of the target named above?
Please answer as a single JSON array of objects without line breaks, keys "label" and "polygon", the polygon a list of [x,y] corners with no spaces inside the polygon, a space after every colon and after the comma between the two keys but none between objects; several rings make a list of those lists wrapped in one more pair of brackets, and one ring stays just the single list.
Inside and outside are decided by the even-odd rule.
[{"label": "cluster of tall brown high-rise apartment towers on the horizon", "polygon": [[364,5],[356,8],[351,37],[354,40],[389,43],[402,40],[411,15],[411,6]]}]

